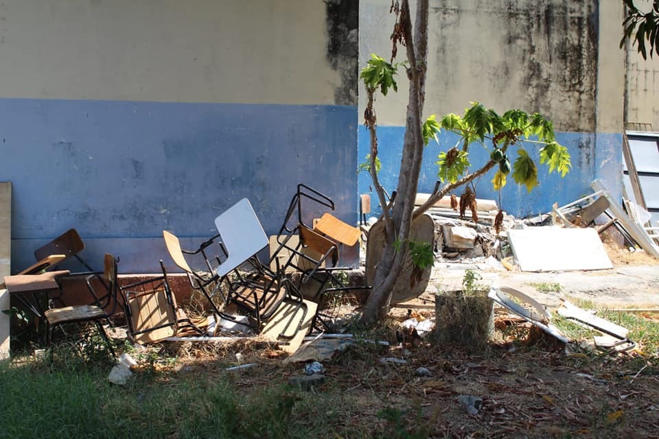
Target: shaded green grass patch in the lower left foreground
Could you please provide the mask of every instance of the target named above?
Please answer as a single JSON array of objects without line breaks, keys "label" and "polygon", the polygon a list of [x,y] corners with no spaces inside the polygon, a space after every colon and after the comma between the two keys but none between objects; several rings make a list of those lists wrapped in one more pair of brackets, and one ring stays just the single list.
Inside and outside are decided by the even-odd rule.
[{"label": "shaded green grass patch in the lower left foreground", "polygon": [[118,386],[111,364],[54,354],[0,362],[0,438],[370,436],[347,425],[351,400],[338,391],[302,392],[286,379],[244,388],[228,373],[194,371],[140,372]]}]

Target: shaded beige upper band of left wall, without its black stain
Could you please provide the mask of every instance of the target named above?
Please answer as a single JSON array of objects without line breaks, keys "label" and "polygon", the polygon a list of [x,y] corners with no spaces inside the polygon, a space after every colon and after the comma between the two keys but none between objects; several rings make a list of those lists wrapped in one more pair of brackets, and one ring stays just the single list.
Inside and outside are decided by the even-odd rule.
[{"label": "shaded beige upper band of left wall, without its black stain", "polygon": [[5,0],[0,97],[332,104],[325,3]]}]

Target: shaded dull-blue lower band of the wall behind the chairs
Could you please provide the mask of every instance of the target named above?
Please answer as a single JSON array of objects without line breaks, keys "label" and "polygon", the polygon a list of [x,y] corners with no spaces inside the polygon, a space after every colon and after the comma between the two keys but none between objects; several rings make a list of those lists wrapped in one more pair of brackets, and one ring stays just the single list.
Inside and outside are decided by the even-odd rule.
[{"label": "shaded dull-blue lower band of the wall behind the chairs", "polygon": [[111,251],[121,272],[154,272],[163,229],[198,242],[248,198],[275,233],[299,182],[354,222],[356,123],[356,106],[0,99],[12,272],[71,227],[94,267]]}]

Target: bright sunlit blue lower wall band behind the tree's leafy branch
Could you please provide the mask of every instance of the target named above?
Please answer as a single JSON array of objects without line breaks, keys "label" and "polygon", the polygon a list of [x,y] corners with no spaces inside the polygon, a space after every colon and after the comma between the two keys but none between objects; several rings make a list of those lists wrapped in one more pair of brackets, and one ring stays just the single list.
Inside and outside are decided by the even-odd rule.
[{"label": "bright sunlit blue lower wall band behind the tree's leafy branch", "polygon": [[[398,169],[402,157],[402,145],[405,128],[402,126],[378,126],[378,154],[382,161],[380,180],[389,193],[395,190],[398,184]],[[359,151],[358,161],[365,161],[369,154],[369,132],[364,126],[358,129]],[[437,155],[453,147],[458,137],[453,133],[442,132],[439,136],[439,145],[432,141],[424,153],[424,164],[419,178],[419,192],[430,192],[437,181],[438,167],[435,165]],[[557,202],[560,205],[567,204],[592,193],[590,182],[595,178],[601,178],[609,190],[618,196],[621,193],[621,169],[622,158],[619,150],[622,143],[622,134],[593,134],[559,132],[557,141],[568,147],[572,156],[573,169],[565,178],[554,172],[549,175],[547,167],[538,166],[538,180],[540,185],[529,193],[526,187],[519,187],[509,176],[508,184],[502,189],[500,195],[492,189],[491,180],[494,178],[495,170],[481,177],[476,183],[478,198],[496,200],[502,209],[516,217],[526,217],[538,213],[551,211],[551,205]],[[539,152],[531,145],[526,147],[527,151],[539,163]],[[509,154],[511,163],[517,158],[516,152]],[[470,147],[470,162],[472,169],[478,169],[478,165],[485,163],[489,158],[487,152],[480,145]],[[360,193],[369,193],[371,177],[366,172],[361,172],[358,179]],[[456,195],[462,193],[458,189]],[[372,197],[373,202],[376,198]],[[373,204],[375,208],[375,204]],[[380,211],[378,208],[377,211]]]}]

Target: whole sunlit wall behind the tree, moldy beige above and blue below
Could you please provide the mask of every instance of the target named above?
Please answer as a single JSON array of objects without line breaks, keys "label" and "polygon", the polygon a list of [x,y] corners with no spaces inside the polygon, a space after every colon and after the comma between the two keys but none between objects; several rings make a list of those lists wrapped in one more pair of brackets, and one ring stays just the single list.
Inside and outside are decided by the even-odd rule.
[{"label": "whole sunlit wall behind the tree, moldy beige above and blue below", "polygon": [[[623,6],[613,1],[437,0],[430,6],[428,86],[425,115],[463,114],[472,101],[498,112],[520,108],[540,112],[554,121],[558,141],[573,156],[573,171],[561,179],[540,169],[540,187],[527,194],[509,185],[501,193],[503,209],[515,215],[546,212],[553,202],[569,202],[590,192],[594,178],[620,191],[624,54],[616,49]],[[360,3],[360,66],[371,53],[389,58],[393,15],[376,0]],[[402,52],[400,52],[402,54]],[[399,59],[399,61],[402,58]],[[386,189],[397,185],[397,167],[404,133],[407,81],[399,93],[378,97],[380,158]],[[361,90],[361,88],[360,88]],[[360,109],[363,96],[360,95]],[[437,154],[455,144],[451,134],[431,143],[424,156],[419,191],[437,180]],[[531,148],[532,149],[532,148]],[[530,151],[531,152],[531,151]],[[368,134],[359,130],[359,159],[368,153]],[[472,163],[483,163],[483,148],[472,148]],[[537,151],[535,152],[537,156]],[[513,156],[514,157],[514,156]],[[477,169],[474,167],[474,169]],[[479,198],[494,198],[490,180],[479,180]],[[360,192],[370,178],[360,175]]]}]

